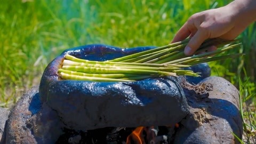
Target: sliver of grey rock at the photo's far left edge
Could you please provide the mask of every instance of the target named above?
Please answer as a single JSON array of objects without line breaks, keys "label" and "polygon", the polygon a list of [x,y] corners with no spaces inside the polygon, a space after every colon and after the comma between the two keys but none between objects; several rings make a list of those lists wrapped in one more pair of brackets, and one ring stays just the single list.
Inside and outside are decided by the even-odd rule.
[{"label": "sliver of grey rock at the photo's far left edge", "polygon": [[0,107],[0,143],[5,143],[5,125],[10,111]]}]

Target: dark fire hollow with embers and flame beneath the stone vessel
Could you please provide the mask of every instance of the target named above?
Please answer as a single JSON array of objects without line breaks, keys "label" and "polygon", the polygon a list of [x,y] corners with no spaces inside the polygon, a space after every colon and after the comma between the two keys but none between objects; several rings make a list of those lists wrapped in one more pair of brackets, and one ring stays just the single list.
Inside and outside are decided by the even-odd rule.
[{"label": "dark fire hollow with embers and flame beneath the stone vessel", "polygon": [[65,129],[57,143],[167,144],[171,141],[173,129],[167,126],[105,127],[87,132]]}]

